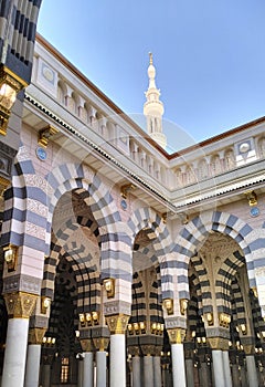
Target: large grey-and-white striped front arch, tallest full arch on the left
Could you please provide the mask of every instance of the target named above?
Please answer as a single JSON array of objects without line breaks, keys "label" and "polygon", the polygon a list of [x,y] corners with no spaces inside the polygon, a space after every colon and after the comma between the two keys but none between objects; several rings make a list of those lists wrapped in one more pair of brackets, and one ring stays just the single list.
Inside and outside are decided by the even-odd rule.
[{"label": "large grey-and-white striped front arch, tallest full arch on the left", "polygon": [[[102,278],[116,278],[131,282],[131,258],[127,252],[129,238],[119,227],[120,215],[109,194],[109,187],[87,167],[68,164],[59,166],[47,177],[49,217],[46,230],[46,252],[50,251],[52,218],[55,206],[63,194],[75,190],[83,195],[98,224],[102,240]],[[123,231],[121,231],[123,230]]]}]

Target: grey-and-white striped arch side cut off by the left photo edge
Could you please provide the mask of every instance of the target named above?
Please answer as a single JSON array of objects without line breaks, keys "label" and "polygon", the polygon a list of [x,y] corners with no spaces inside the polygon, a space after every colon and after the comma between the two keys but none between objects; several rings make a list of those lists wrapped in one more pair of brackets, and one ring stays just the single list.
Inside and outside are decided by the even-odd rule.
[{"label": "grey-and-white striped arch side cut off by the left photo edge", "polygon": [[21,146],[12,170],[12,186],[4,192],[1,245],[25,245],[39,253],[45,250],[46,181],[35,175],[30,155]]}]

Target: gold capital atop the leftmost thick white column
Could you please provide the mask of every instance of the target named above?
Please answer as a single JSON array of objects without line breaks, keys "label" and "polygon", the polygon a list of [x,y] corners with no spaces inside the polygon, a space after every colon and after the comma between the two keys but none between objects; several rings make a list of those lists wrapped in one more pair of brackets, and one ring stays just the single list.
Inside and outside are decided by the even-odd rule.
[{"label": "gold capital atop the leftmost thick white column", "polygon": [[3,294],[10,318],[30,318],[38,300],[36,294],[17,292]]}]

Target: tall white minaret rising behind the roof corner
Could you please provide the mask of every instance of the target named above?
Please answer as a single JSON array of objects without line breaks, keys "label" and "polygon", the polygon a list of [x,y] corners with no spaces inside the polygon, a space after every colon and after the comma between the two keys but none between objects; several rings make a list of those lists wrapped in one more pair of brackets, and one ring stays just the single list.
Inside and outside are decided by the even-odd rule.
[{"label": "tall white minaret rising behind the roof corner", "polygon": [[144,114],[147,119],[147,132],[162,148],[167,146],[167,137],[162,133],[163,104],[159,101],[160,91],[156,86],[156,69],[152,64],[152,54],[149,53],[149,87],[145,93],[147,102],[144,105]]}]

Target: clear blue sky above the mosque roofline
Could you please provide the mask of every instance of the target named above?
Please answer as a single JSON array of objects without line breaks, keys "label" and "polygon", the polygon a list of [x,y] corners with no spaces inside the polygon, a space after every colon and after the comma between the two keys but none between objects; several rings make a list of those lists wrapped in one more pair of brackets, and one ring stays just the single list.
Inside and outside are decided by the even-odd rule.
[{"label": "clear blue sky above the mosque roofline", "polygon": [[38,30],[132,117],[151,51],[176,149],[181,129],[200,142],[265,115],[264,15],[264,0],[43,0]]}]

